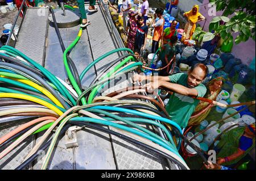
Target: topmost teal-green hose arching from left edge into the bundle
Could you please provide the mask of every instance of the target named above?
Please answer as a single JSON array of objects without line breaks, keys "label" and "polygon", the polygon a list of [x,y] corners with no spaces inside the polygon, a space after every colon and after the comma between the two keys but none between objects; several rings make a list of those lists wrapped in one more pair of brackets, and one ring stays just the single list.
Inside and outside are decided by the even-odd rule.
[{"label": "topmost teal-green hose arching from left edge into the bundle", "polygon": [[57,87],[57,90],[59,90],[59,92],[65,96],[65,98],[68,98],[73,105],[75,105],[76,101],[75,99],[73,99],[73,97],[71,96],[71,94],[69,94],[68,90],[66,89],[65,86],[63,86],[60,81],[51,73],[49,72],[47,69],[43,68],[43,66],[39,65],[38,63],[36,63],[34,60],[32,60],[31,58],[27,57],[25,54],[23,54],[22,52],[20,52],[19,50],[13,48],[13,47],[10,47],[10,46],[7,46],[7,45],[4,45],[3,47],[1,47],[0,49],[2,48],[6,48],[7,50],[12,50],[16,53],[18,53],[18,55],[22,58],[24,58],[25,60],[27,60],[28,62],[30,62],[30,64],[34,65],[35,68],[39,69],[44,75],[46,75],[46,77],[49,79],[49,81],[51,81],[56,87]]}]

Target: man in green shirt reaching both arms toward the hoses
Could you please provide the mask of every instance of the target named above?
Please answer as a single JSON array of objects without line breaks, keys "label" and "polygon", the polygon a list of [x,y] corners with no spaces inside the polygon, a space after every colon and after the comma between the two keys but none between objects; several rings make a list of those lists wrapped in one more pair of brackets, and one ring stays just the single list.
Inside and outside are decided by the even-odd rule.
[{"label": "man in green shirt reaching both arms toward the hoses", "polygon": [[202,84],[208,74],[208,68],[204,64],[196,64],[189,70],[188,74],[178,73],[171,76],[145,76],[134,75],[134,82],[151,81],[143,87],[147,90],[155,90],[165,87],[174,92],[166,106],[171,120],[180,125],[181,128],[187,127],[188,120],[195,111],[199,100],[190,96],[203,97],[207,88]]}]

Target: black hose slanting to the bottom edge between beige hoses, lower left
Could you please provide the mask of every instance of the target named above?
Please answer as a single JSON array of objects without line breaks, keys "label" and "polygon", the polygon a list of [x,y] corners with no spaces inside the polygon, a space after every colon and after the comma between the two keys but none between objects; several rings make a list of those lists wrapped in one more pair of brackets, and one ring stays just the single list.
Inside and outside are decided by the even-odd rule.
[{"label": "black hose slanting to the bottom edge between beige hoses, lower left", "polygon": [[[68,130],[68,128],[70,126],[71,126],[70,124],[65,125],[63,127],[63,129],[61,129],[59,136],[64,134]],[[39,150],[46,150],[49,147],[49,145],[51,145],[51,141],[52,141],[52,138],[49,141],[47,141],[46,144],[40,146]],[[16,167],[15,170],[22,170],[22,169],[24,169],[26,166],[30,165],[30,163],[32,161],[34,161],[36,158],[38,158],[40,155],[41,155],[41,153],[39,153],[39,151],[37,151],[36,153],[32,154],[31,157],[26,159],[26,161],[24,161],[22,164],[20,164],[18,167]]]}]

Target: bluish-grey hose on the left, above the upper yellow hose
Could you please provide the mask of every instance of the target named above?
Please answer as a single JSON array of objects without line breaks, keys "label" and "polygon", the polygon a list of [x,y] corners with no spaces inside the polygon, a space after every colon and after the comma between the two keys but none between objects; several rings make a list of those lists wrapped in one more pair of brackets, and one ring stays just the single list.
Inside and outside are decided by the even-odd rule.
[{"label": "bluish-grey hose on the left, above the upper yellow hose", "polygon": [[30,75],[32,78],[35,78],[38,82],[40,82],[49,92],[52,93],[53,96],[55,96],[55,98],[57,100],[59,100],[59,102],[64,106],[64,108],[66,110],[69,109],[69,107],[67,106],[67,104],[65,103],[64,99],[61,98],[61,96],[57,93],[56,90],[54,90],[51,86],[48,85],[48,83],[46,81],[44,81],[43,78],[39,77],[39,75],[35,74],[34,72],[27,70],[25,68],[23,68],[22,66],[18,66],[18,65],[14,65],[14,64],[10,64],[10,63],[6,63],[6,62],[0,62],[0,66],[9,66],[10,68],[14,68],[17,69],[19,71],[22,71],[23,73],[26,73],[28,75]]}]

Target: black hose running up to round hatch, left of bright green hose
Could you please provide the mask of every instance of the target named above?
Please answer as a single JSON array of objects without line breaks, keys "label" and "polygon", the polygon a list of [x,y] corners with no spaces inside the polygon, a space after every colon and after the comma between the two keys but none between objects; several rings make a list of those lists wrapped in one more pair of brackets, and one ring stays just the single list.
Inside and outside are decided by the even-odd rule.
[{"label": "black hose running up to round hatch, left of bright green hose", "polygon": [[[64,53],[65,52],[65,45],[63,43],[63,40],[62,40],[61,35],[60,35],[59,28],[57,26],[57,22],[56,22],[54,11],[52,10],[52,7],[50,7],[49,10],[51,11],[51,14],[52,14],[53,24],[54,24],[55,31],[57,33],[57,37],[58,37],[59,42],[60,42],[60,47],[61,47],[61,49],[62,49],[62,51]],[[69,53],[70,52],[67,53],[68,66],[71,69],[71,73],[72,73],[73,77],[75,77],[75,79],[76,79],[76,82],[77,82],[77,85],[79,86],[79,89],[82,90],[82,85],[81,85],[79,73],[78,73],[78,71],[76,69],[75,63],[69,57]]]}]

